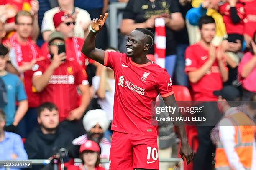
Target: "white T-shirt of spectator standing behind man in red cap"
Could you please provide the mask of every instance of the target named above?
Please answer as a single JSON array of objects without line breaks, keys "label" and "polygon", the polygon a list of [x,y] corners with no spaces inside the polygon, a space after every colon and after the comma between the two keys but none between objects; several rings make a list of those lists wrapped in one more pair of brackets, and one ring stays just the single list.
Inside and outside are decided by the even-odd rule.
[{"label": "white T-shirt of spectator standing behind man in red cap", "polygon": [[[41,28],[42,33],[45,31],[55,31],[53,16],[59,11],[61,11],[59,7],[54,7],[44,13]],[[90,14],[86,10],[78,7],[75,7],[75,11],[78,13],[76,18],[76,25],[74,26],[74,36],[84,38],[84,25],[91,21]]]}]

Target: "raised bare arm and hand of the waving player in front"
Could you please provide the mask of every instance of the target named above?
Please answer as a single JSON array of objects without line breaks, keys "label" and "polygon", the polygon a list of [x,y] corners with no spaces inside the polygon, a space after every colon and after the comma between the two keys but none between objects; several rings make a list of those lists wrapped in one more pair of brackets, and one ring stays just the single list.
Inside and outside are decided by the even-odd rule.
[{"label": "raised bare arm and hand of the waving player in front", "polygon": [[84,41],[84,45],[82,47],[82,53],[91,59],[104,64],[104,51],[101,49],[97,49],[95,47],[95,37],[97,32],[100,31],[108,17],[108,13],[100,15],[100,19],[96,18],[92,20],[91,31]]}]

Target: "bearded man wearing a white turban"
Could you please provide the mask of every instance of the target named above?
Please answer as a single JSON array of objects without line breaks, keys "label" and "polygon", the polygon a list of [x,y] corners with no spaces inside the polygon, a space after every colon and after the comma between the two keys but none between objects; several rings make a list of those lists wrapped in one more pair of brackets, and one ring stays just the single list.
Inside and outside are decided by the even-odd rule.
[{"label": "bearded man wearing a white turban", "polygon": [[[73,147],[69,149],[69,156],[79,158],[80,145],[87,140],[93,140],[100,145],[100,158],[109,159],[111,144],[107,138],[103,137],[109,126],[107,113],[102,109],[89,110],[83,118],[83,125],[87,133],[73,140]],[[104,166],[108,169],[108,164]]]}]

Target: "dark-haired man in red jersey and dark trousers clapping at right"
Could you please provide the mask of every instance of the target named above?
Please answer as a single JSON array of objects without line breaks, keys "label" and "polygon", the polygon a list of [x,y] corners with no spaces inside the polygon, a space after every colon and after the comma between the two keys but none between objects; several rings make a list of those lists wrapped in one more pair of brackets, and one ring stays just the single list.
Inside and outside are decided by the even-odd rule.
[{"label": "dark-haired man in red jersey and dark trousers clapping at right", "polygon": [[[215,36],[215,21],[210,16],[203,16],[199,20],[201,40],[191,45],[186,50],[185,71],[193,91],[195,101],[204,101],[198,107],[203,107],[202,115],[206,117],[206,124],[197,126],[199,148],[194,158],[195,170],[212,169],[212,153],[214,145],[210,140],[210,130],[216,125],[221,117],[218,112],[218,96],[213,91],[222,89],[222,83],[228,80],[222,55],[210,43]],[[218,52],[219,53],[219,52]],[[208,101],[208,102],[207,102]],[[213,102],[210,102],[213,101]],[[211,126],[209,126],[211,125]]]}]

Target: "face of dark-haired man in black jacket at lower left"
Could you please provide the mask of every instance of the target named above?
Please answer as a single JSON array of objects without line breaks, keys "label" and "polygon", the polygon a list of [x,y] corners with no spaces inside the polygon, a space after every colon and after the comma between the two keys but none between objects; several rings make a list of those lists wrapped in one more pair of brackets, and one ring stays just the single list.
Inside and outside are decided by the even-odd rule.
[{"label": "face of dark-haired man in black jacket at lower left", "polygon": [[44,109],[38,117],[38,123],[46,130],[53,130],[59,125],[59,112],[57,110]]}]

